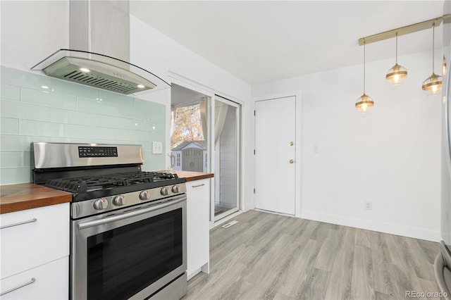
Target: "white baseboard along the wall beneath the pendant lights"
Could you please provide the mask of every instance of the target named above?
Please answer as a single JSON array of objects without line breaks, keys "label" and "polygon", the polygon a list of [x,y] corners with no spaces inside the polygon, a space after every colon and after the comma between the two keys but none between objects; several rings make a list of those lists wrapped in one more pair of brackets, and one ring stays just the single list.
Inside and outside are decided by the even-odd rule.
[{"label": "white baseboard along the wall beneath the pendant lights", "polygon": [[392,235],[402,235],[403,237],[413,237],[415,239],[426,239],[432,242],[440,242],[440,230],[428,230],[421,227],[412,227],[393,223],[383,223],[374,220],[350,218],[345,215],[331,215],[316,211],[301,211],[301,218],[324,223],[355,227],[365,230],[390,233]]}]

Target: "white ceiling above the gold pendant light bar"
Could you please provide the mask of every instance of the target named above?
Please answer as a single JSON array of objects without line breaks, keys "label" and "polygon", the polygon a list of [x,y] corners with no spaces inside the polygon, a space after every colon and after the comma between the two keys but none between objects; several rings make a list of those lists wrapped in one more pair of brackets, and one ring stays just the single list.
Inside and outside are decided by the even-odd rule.
[{"label": "white ceiling above the gold pendant light bar", "polygon": [[[431,0],[130,1],[132,15],[249,84],[362,63],[360,37],[442,11],[443,1]],[[440,26],[435,47],[441,35]],[[398,45],[400,56],[431,50],[432,30],[401,36]],[[366,45],[366,61],[394,56],[395,39]]]}]

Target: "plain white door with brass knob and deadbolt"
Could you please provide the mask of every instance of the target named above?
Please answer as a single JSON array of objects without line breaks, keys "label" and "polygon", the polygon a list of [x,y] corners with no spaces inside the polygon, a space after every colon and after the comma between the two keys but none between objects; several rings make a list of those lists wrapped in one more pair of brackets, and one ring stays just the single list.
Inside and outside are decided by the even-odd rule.
[{"label": "plain white door with brass knob and deadbolt", "polygon": [[255,103],[255,208],[295,215],[295,96]]}]

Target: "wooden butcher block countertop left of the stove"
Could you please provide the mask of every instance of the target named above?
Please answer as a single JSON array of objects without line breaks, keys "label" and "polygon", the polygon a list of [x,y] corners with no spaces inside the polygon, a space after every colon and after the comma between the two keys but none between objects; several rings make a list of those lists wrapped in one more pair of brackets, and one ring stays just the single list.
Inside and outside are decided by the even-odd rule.
[{"label": "wooden butcher block countertop left of the stove", "polygon": [[35,185],[34,183],[0,186],[0,213],[24,211],[25,209],[61,204],[71,200],[72,194],[70,193]]}]

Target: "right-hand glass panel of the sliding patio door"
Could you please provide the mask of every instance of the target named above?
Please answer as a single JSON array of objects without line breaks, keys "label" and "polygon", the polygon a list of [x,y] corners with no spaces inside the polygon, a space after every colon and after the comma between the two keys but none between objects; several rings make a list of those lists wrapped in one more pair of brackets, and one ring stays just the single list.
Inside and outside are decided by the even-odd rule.
[{"label": "right-hand glass panel of the sliding patio door", "polygon": [[239,209],[240,104],[215,96],[214,103],[214,220]]}]

